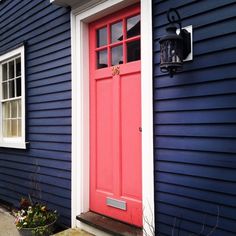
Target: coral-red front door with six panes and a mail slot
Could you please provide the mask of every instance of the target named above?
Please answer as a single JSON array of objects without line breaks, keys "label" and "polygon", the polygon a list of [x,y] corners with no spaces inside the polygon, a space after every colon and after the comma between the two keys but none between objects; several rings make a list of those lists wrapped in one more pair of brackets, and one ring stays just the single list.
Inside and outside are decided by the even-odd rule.
[{"label": "coral-red front door with six panes and a mail slot", "polygon": [[140,7],[89,27],[90,210],[142,226]]}]

